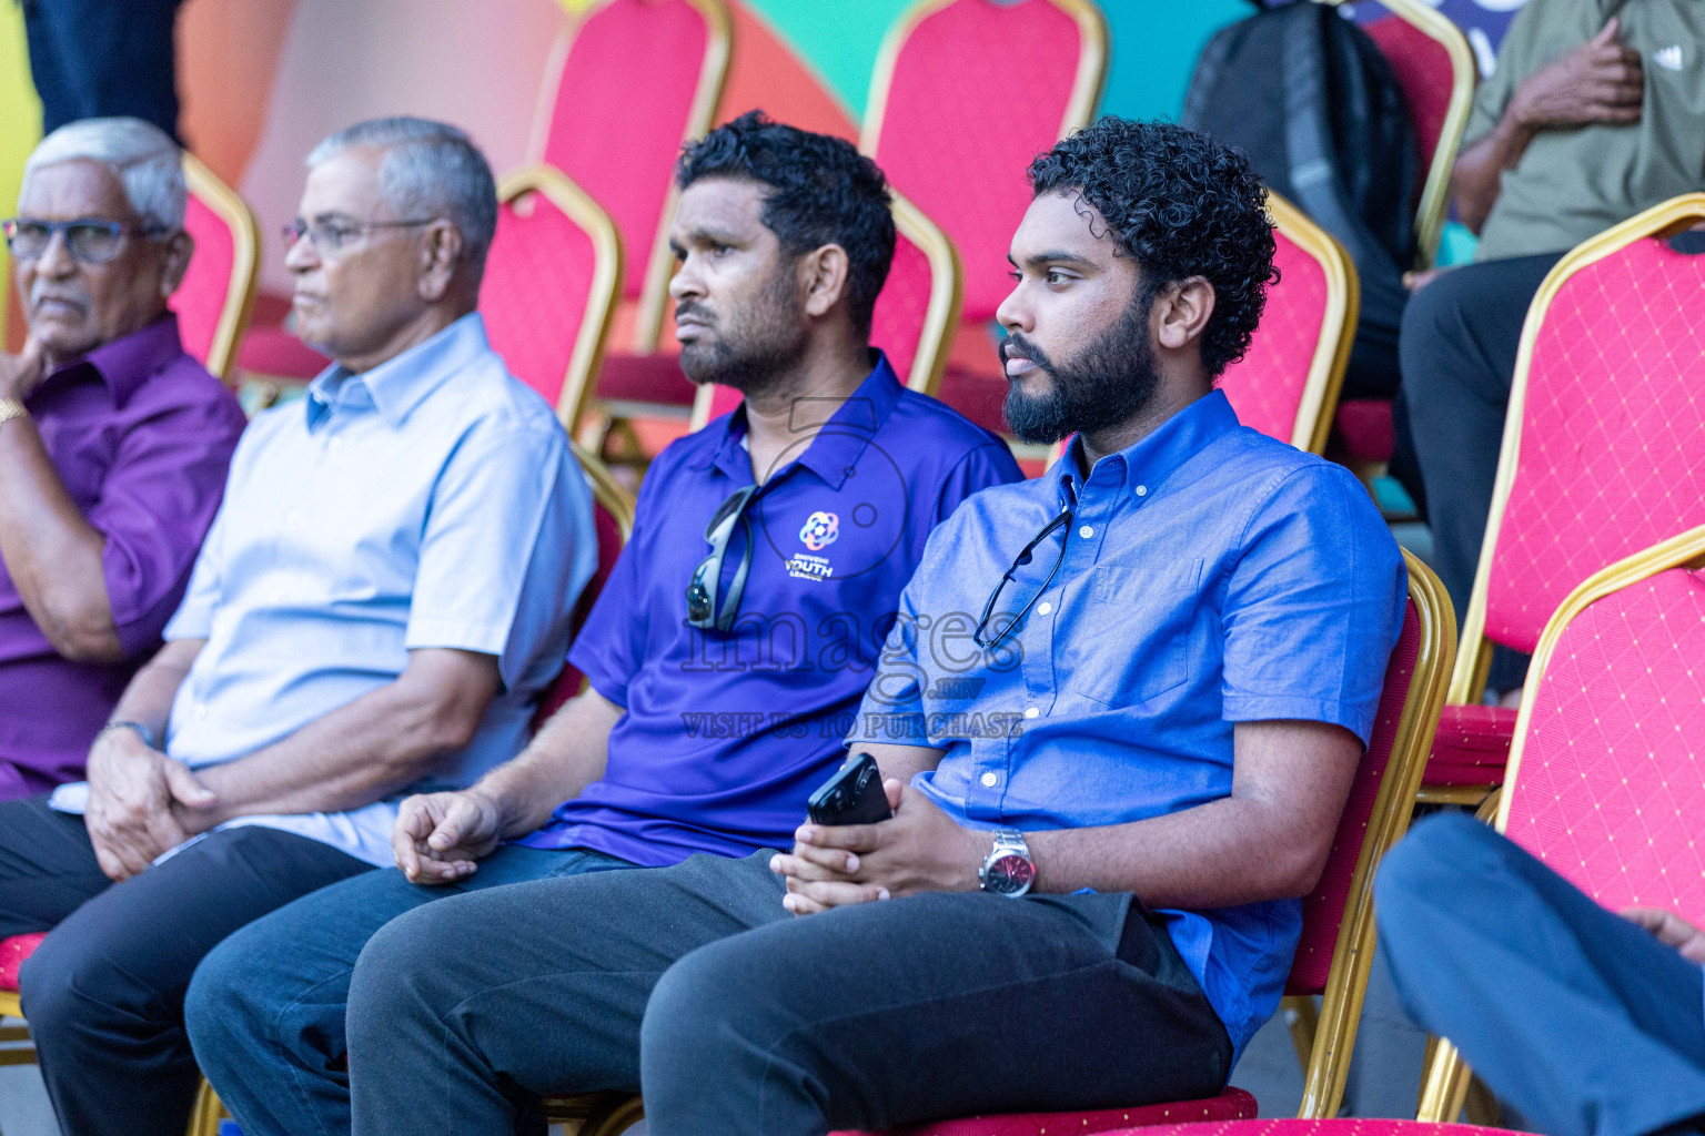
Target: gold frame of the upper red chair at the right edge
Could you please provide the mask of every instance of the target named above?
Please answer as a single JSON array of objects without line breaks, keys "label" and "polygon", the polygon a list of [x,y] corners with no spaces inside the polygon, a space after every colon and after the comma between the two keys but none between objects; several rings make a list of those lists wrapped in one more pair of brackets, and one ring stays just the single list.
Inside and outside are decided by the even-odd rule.
[{"label": "gold frame of the upper red chair at the right edge", "polygon": [[[1485,693],[1487,671],[1492,666],[1492,640],[1485,635],[1492,560],[1497,552],[1499,531],[1504,525],[1504,511],[1509,508],[1509,496],[1516,487],[1516,462],[1521,455],[1521,421],[1528,404],[1528,373],[1533,366],[1533,349],[1552,301],[1569,278],[1586,266],[1603,261],[1637,240],[1673,235],[1702,220],[1705,220],[1705,192],[1671,198],[1575,245],[1552,267],[1540,284],[1540,291],[1534,293],[1533,303],[1528,307],[1528,318],[1521,327],[1521,344],[1516,349],[1516,375],[1509,388],[1509,410],[1504,417],[1504,441],[1499,450],[1497,480],[1492,484],[1492,513],[1487,518],[1487,533],[1480,543],[1475,588],[1468,596],[1468,610],[1463,613],[1456,666],[1451,674],[1449,705],[1477,705]],[[1480,785],[1422,785],[1420,790],[1424,804],[1477,806],[1485,795],[1487,787]]]}]

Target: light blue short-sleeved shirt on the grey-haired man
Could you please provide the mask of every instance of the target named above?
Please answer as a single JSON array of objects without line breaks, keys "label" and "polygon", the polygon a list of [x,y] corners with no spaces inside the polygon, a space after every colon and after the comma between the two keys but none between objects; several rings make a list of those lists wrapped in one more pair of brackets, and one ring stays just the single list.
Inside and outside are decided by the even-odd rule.
[{"label": "light blue short-sleeved shirt on the grey-haired man", "polygon": [[[165,639],[205,639],[165,749],[191,768],[263,749],[387,683],[409,651],[496,656],[472,744],[413,790],[460,787],[527,743],[597,565],[592,499],[551,407],[477,313],[382,366],[332,366],[254,419]],[[70,789],[70,787],[68,787]],[[82,794],[63,792],[77,809]],[[399,797],[247,816],[390,863]]]}]

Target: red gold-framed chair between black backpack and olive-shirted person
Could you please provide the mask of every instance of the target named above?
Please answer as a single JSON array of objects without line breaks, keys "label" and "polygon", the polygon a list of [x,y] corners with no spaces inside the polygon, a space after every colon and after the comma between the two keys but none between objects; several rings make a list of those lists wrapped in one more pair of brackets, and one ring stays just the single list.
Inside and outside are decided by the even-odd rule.
[{"label": "red gold-framed chair between black backpack and olive-shirted person", "polygon": [[[1338,3],[1342,0],[1323,0]],[[1376,7],[1373,2],[1366,7]],[[1415,206],[1415,267],[1432,266],[1449,206],[1451,167],[1475,100],[1475,53],[1463,32],[1422,0],[1378,0],[1384,15],[1362,26],[1396,72],[1420,143]],[[1352,467],[1391,460],[1395,433],[1388,399],[1350,399],[1338,407],[1333,455]]]}]

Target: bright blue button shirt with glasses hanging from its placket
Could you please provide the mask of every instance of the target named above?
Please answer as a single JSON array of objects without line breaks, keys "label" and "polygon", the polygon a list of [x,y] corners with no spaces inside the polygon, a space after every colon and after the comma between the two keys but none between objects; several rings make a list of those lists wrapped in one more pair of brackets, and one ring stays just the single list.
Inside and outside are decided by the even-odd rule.
[{"label": "bright blue button shirt with glasses hanging from its placket", "polygon": [[[1059,574],[1011,639],[979,649],[984,601],[1072,492]],[[999,610],[1057,554],[1054,535]],[[1240,426],[1216,390],[1088,477],[1074,443],[1047,475],[960,506],[905,588],[851,741],[943,748],[914,783],[974,828],[1178,812],[1231,794],[1236,722],[1332,722],[1367,744],[1405,598],[1362,485]],[[1127,906],[1086,904],[1110,947]],[[1161,915],[1241,1053],[1279,1003],[1301,901]]]}]

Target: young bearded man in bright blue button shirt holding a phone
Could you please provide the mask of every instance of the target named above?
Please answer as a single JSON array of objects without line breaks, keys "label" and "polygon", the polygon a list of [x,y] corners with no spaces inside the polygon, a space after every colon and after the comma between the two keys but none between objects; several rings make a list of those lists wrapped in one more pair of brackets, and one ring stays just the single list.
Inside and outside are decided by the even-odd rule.
[{"label": "young bearded man in bright blue button shirt holding a phone", "polygon": [[1076,439],[974,494],[907,584],[849,737],[893,819],[396,920],[350,991],[356,1133],[512,1133],[530,1093],[641,1083],[660,1136],[1226,1083],[1279,1001],[1403,565],[1354,477],[1214,390],[1272,279],[1243,157],[1107,118],[1030,177],[1008,421]]}]

